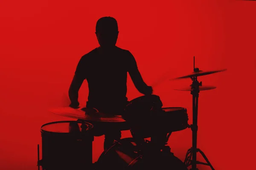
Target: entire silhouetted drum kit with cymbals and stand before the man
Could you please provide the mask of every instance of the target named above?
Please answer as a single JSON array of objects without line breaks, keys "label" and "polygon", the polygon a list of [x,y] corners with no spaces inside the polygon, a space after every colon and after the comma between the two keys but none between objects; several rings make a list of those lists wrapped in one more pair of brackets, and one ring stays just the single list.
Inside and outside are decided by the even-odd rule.
[{"label": "entire silhouetted drum kit with cymbals and stand before the man", "polygon": [[[40,167],[43,170],[139,170],[167,167],[172,170],[188,170],[189,166],[190,170],[198,170],[197,164],[207,165],[214,170],[205,154],[197,148],[197,131],[199,92],[216,87],[203,86],[198,77],[225,70],[200,71],[199,68],[195,68],[194,57],[194,71],[176,78],[192,79],[192,84],[188,88],[175,89],[190,91],[192,94],[192,125],[188,124],[186,108],[163,108],[160,97],[153,94],[131,100],[120,115],[105,114],[86,107],[52,109],[52,113],[78,120],[42,125],[42,159],[40,160],[38,144],[38,170]],[[97,127],[99,124],[103,126]],[[107,126],[130,130],[133,137],[115,141],[110,148],[104,150],[98,161],[93,163],[94,136],[103,135],[101,128]],[[192,147],[187,151],[185,161],[181,161],[171,152],[167,142],[172,132],[186,128],[192,130]],[[166,138],[160,147],[156,147],[152,137],[159,133],[165,134]],[[148,141],[146,138],[151,140]],[[198,152],[206,163],[197,160]]]}]

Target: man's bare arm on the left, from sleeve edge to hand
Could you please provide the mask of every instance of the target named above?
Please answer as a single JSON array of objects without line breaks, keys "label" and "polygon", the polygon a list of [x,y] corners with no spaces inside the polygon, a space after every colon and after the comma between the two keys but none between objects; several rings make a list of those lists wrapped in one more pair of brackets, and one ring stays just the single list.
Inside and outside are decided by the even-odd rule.
[{"label": "man's bare arm on the left, from sleeve edge to hand", "polygon": [[81,88],[82,83],[84,82],[84,79],[81,79],[78,77],[76,74],[73,77],[73,80],[71,82],[68,95],[70,98],[70,107],[72,108],[78,108],[79,102],[78,102],[78,92],[79,89]]}]

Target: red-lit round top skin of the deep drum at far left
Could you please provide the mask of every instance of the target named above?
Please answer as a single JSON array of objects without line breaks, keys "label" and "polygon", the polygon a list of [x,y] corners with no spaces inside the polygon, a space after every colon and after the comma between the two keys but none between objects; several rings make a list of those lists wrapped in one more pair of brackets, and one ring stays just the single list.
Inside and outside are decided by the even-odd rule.
[{"label": "red-lit round top skin of the deep drum at far left", "polygon": [[91,130],[93,125],[88,122],[78,122],[78,121],[59,121],[50,122],[42,125],[42,133],[79,133],[83,130]]}]

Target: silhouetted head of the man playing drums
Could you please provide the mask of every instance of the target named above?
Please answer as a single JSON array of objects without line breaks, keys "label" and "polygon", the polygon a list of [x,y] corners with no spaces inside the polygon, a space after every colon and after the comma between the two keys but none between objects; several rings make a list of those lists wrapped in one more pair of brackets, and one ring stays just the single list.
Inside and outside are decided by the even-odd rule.
[{"label": "silhouetted head of the man playing drums", "polygon": [[117,21],[113,17],[102,17],[96,23],[96,36],[101,47],[113,47],[118,37]]}]

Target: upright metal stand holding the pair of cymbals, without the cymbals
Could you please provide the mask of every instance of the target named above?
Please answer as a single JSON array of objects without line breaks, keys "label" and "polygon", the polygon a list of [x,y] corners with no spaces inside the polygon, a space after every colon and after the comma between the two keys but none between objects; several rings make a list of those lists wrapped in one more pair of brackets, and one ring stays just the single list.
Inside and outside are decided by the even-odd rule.
[{"label": "upright metal stand holding the pair of cymbals, without the cymbals", "polygon": [[[194,72],[198,72],[199,68],[195,68],[195,57],[194,57]],[[187,167],[192,165],[192,168],[190,170],[198,170],[196,167],[197,164],[204,164],[209,167],[211,167],[212,170],[214,168],[212,167],[212,164],[209,162],[203,151],[197,148],[197,131],[198,131],[198,96],[199,96],[199,86],[202,86],[202,82],[198,82],[197,77],[191,77],[192,79],[192,91],[191,94],[193,96],[193,123],[189,127],[192,130],[192,147],[187,151],[186,158],[184,163]],[[204,157],[204,160],[207,163],[197,161],[197,153],[201,153],[201,155]]]}]

